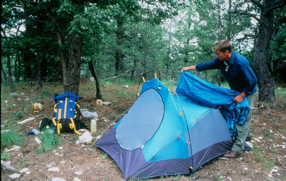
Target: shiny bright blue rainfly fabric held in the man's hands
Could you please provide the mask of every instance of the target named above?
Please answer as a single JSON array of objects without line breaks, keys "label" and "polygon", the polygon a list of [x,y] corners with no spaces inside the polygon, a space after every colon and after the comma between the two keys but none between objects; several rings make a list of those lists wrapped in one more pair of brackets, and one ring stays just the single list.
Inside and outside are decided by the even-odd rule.
[{"label": "shiny bright blue rainfly fabric held in the man's hands", "polygon": [[231,137],[236,135],[235,123],[243,125],[249,112],[246,97],[239,104],[233,101],[240,92],[211,84],[190,72],[181,73],[176,93],[179,97],[186,96],[190,98],[190,102],[206,107],[221,106],[219,110],[228,122]]}]

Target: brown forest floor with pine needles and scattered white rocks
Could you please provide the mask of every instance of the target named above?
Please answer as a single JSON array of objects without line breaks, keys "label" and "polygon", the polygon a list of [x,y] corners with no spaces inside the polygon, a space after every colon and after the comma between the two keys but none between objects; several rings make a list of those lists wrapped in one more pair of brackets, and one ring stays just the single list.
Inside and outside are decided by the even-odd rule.
[{"label": "brown forest floor with pine needles and scattered white rocks", "polygon": [[[80,108],[96,112],[99,116],[97,133],[93,135],[94,138],[135,102],[138,85],[129,85],[127,89],[123,86],[124,83],[102,84],[101,90],[106,99],[105,101],[113,104],[112,106],[103,106],[96,105],[95,82],[81,81]],[[286,149],[280,145],[285,145],[286,142],[286,88],[281,85],[280,87],[282,87],[279,91],[281,91],[280,95],[283,96],[283,99],[276,96],[275,103],[258,102],[258,94],[255,94],[255,106],[251,122],[251,132],[254,138],[251,142],[254,146],[252,151],[243,152],[243,157],[240,159],[223,160],[221,157],[215,158],[205,163],[192,175],[155,177],[150,178],[150,180],[186,181],[197,178],[202,181],[285,181]],[[10,96],[12,92],[18,93],[18,95]],[[21,177],[11,179],[9,176],[14,172],[1,168],[1,180],[43,181],[58,177],[67,181],[77,179],[82,181],[123,181],[124,177],[120,168],[100,148],[93,146],[90,149],[84,149],[85,147],[81,144],[75,144],[78,139],[77,134],[61,133],[61,143],[55,148],[54,152],[44,154],[37,152],[39,145],[35,142],[36,135],[27,135],[27,133],[31,132],[32,128],[38,128],[39,122],[43,118],[52,117],[54,107],[52,95],[54,93],[61,94],[62,92],[62,86],[55,83],[45,84],[38,90],[35,90],[35,86],[30,87],[28,83],[15,86],[13,91],[1,87],[1,130],[7,129],[7,125],[13,125],[17,127],[18,134],[24,137],[23,143],[19,145],[21,148],[13,152],[7,152],[10,157],[6,158],[5,161],[10,161],[10,165],[18,171],[28,168],[31,172],[28,172],[29,174],[23,173]],[[24,95],[21,95],[21,93],[24,93]],[[16,100],[19,98],[21,100]],[[25,100],[27,98],[29,100]],[[9,102],[5,104],[6,100]],[[44,110],[32,115],[31,104],[35,102],[41,103]],[[23,106],[25,107],[24,116],[19,117],[17,113],[21,112]],[[28,117],[35,117],[36,119],[25,124],[16,124]],[[91,122],[91,120],[82,121],[88,125]],[[115,122],[117,123],[117,121]],[[95,139],[92,143],[94,141]],[[88,146],[91,145],[86,145],[86,147]],[[4,149],[1,150],[1,157],[3,153]],[[51,167],[58,167],[59,171],[47,171]]]}]

